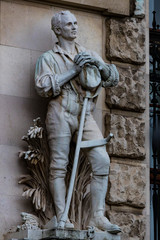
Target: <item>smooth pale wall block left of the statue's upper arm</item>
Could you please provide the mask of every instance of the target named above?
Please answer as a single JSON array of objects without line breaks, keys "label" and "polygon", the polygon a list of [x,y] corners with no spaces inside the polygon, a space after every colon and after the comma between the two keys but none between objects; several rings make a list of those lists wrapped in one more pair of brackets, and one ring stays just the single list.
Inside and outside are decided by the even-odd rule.
[{"label": "smooth pale wall block left of the statue's upper arm", "polygon": [[30,97],[30,52],[0,45],[0,94]]}]

